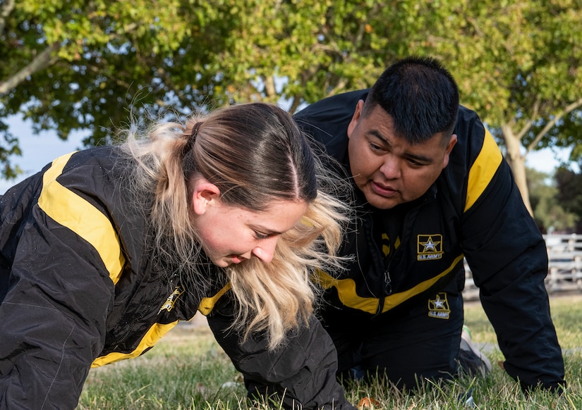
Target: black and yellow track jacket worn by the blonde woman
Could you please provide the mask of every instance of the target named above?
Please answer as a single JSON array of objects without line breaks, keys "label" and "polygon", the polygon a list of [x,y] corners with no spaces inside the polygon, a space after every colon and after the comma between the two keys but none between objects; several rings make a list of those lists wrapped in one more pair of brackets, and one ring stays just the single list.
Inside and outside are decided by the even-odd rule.
[{"label": "black and yellow track jacket worn by the blonde woman", "polygon": [[[294,365],[269,364],[260,340],[243,348],[227,331],[228,284],[185,288],[152,258],[144,206],[132,204],[121,184],[127,167],[113,147],[87,149],[0,198],[0,408],[74,409],[91,366],[143,354],[197,309],[210,313],[218,299],[229,314],[209,322],[240,371],[270,392],[286,391],[290,406],[316,408],[339,397],[349,407],[333,377],[314,381],[305,371],[309,361],[334,374],[330,340],[309,357],[290,343]],[[301,380],[317,385],[303,392],[293,387]]]}]

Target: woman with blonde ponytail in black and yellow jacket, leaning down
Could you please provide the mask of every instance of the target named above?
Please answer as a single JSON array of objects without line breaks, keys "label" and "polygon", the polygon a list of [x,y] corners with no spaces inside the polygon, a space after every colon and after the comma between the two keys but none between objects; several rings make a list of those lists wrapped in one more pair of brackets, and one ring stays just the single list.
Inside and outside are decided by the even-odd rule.
[{"label": "woman with blonde ponytail in black and yellow jacket, leaning down", "polygon": [[[74,409],[90,367],[197,310],[289,406],[351,407],[334,371],[281,380],[257,363],[322,337],[307,356],[336,365],[310,274],[339,266],[346,208],[289,114],[241,104],[145,135],[61,156],[1,197],[0,407]],[[302,380],[326,395],[301,397]]]}]

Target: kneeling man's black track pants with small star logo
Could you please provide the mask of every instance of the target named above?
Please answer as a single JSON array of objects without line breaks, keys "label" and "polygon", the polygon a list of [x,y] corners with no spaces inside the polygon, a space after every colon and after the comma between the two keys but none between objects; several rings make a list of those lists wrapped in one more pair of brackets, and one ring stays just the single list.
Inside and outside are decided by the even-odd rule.
[{"label": "kneeling man's black track pants with small star logo", "polygon": [[458,373],[463,327],[461,294],[440,292],[418,299],[398,314],[376,318],[341,317],[326,321],[336,345],[341,378],[386,376],[399,387],[413,388],[423,378],[451,378]]}]

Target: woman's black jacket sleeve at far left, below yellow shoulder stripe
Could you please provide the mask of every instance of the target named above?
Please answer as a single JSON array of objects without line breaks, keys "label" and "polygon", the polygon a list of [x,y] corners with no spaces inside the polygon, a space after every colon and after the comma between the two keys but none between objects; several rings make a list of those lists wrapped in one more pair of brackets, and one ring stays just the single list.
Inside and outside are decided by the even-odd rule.
[{"label": "woman's black jacket sleeve at far left, below yellow shoulder stripe", "polygon": [[113,283],[99,254],[35,207],[0,305],[0,408],[74,409],[102,351]]}]

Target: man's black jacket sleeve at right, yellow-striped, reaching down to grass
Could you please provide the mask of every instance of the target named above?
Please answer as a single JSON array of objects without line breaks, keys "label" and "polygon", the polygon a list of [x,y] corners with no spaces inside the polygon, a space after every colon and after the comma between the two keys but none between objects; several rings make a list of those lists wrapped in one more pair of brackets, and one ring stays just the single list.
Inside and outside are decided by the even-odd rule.
[{"label": "man's black jacket sleeve at right, yellow-striped, reaching down to grass", "polygon": [[[487,161],[487,144],[469,174],[467,197],[473,199],[461,218],[463,251],[497,333],[505,370],[524,390],[537,385],[555,390],[565,385],[564,361],[544,285],[545,242],[507,162]],[[478,187],[485,187],[480,195]]]}]

